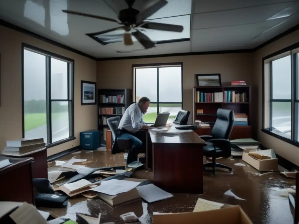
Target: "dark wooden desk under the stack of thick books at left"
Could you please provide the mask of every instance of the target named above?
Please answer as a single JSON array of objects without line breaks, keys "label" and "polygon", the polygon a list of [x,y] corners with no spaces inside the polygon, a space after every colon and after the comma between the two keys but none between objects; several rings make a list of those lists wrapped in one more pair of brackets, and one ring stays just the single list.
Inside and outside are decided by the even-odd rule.
[{"label": "dark wooden desk under the stack of thick books at left", "polygon": [[34,162],[32,163],[32,177],[33,178],[47,178],[48,179],[48,161],[47,161],[47,149],[40,148],[28,153],[14,155],[9,152],[3,152],[2,155],[11,158],[27,158],[32,157]]}]

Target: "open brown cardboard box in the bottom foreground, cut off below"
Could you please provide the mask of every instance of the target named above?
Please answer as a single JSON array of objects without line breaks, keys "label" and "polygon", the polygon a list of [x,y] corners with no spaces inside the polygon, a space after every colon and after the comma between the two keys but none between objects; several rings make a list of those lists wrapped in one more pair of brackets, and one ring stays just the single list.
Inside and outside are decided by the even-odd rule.
[{"label": "open brown cardboard box in the bottom foreground, cut off below", "polygon": [[153,224],[253,224],[240,206],[211,211],[154,214]]}]

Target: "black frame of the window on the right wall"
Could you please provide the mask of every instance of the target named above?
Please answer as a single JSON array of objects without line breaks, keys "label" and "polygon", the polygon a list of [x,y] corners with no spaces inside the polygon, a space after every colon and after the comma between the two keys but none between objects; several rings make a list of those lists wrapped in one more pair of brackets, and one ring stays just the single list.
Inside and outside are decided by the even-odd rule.
[{"label": "black frame of the window on the right wall", "polygon": [[[262,129],[261,131],[263,131],[266,134],[269,134],[273,137],[276,137],[277,139],[280,139],[284,142],[287,142],[291,145],[295,145],[297,147],[299,147],[299,138],[297,139],[298,136],[298,116],[299,116],[299,111],[298,111],[298,107],[296,107],[296,104],[299,104],[299,97],[298,97],[298,79],[299,79],[299,73],[298,73],[298,67],[299,67],[299,63],[298,63],[298,54],[296,52],[293,52],[294,50],[297,50],[299,48],[299,42],[295,43],[293,45],[290,45],[288,47],[285,47],[281,50],[278,50],[274,53],[271,53],[268,56],[263,57],[262,59],[262,88],[263,88],[263,114],[262,114]],[[290,52],[290,56],[291,56],[291,99],[273,99],[273,86],[272,86],[272,61],[276,60],[273,59],[271,60],[271,58],[275,58],[276,56],[280,55],[280,54],[287,54],[288,52]],[[270,127],[265,127],[265,61],[271,60],[269,62],[269,80],[270,80],[270,85],[269,85],[269,126]],[[273,102],[291,102],[291,138],[287,138],[284,137],[282,135],[276,134],[273,132],[273,128],[272,128],[272,103]]]}]

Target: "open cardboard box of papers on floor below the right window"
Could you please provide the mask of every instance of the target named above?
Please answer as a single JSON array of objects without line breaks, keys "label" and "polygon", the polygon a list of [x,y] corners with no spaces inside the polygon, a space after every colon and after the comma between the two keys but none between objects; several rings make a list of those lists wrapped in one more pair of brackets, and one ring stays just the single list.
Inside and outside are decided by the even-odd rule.
[{"label": "open cardboard box of papers on floor below the right window", "polygon": [[[252,154],[252,155],[250,155]],[[254,157],[254,154],[260,155],[260,159]],[[250,150],[245,149],[242,154],[242,160],[256,168],[258,171],[277,171],[278,159],[273,149]]]}]

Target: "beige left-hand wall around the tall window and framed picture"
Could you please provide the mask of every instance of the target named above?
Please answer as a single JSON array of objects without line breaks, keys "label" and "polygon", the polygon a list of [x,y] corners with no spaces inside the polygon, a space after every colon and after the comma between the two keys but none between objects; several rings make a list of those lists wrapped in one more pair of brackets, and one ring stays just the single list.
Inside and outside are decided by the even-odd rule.
[{"label": "beige left-hand wall around the tall window and framed picture", "polygon": [[22,138],[22,42],[74,59],[74,132],[76,139],[49,148],[47,154],[50,156],[80,145],[79,132],[97,128],[97,106],[81,106],[80,101],[81,80],[96,81],[96,61],[3,26],[0,26],[0,33],[0,151],[5,146],[6,140]]}]

